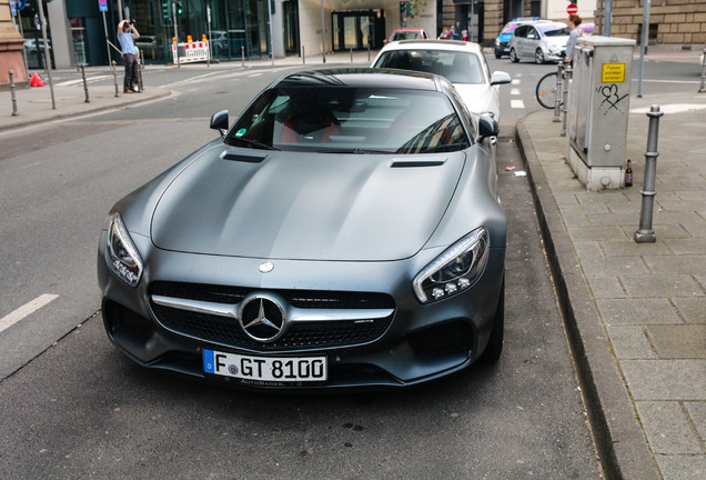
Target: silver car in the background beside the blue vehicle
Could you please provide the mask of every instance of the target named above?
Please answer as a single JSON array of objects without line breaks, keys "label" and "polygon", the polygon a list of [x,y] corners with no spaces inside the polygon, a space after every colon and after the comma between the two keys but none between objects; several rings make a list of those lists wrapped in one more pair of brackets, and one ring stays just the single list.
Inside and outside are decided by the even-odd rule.
[{"label": "silver car in the background beside the blue vehicle", "polygon": [[536,63],[558,61],[566,51],[571,30],[563,22],[527,23],[517,27],[510,40],[510,59]]}]

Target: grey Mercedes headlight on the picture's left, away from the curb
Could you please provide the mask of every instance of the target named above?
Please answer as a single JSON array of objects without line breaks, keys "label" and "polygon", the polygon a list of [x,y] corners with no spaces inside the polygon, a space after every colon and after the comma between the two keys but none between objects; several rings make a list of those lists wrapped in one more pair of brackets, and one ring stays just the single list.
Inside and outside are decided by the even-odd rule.
[{"label": "grey Mercedes headlight on the picture's left, away from the curb", "polygon": [[113,213],[108,219],[108,244],[105,246],[105,262],[122,281],[130,287],[137,287],[142,277],[142,259],[128,233],[120,213]]}]

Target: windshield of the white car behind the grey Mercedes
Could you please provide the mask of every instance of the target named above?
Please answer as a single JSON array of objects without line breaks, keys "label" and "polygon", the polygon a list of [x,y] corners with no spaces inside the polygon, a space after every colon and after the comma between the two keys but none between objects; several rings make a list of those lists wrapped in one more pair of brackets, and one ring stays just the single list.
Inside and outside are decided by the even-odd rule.
[{"label": "windshield of the white car behind the grey Mercedes", "polygon": [[452,83],[485,81],[481,59],[464,51],[391,50],[383,53],[374,67],[436,73]]}]

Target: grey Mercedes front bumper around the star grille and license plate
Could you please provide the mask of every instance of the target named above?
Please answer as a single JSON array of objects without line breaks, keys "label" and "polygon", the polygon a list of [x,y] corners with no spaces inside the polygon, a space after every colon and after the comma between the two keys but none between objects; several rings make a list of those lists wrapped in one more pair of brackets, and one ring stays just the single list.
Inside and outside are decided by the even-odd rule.
[{"label": "grey Mercedes front bumper around the star grille and license plate", "polygon": [[[103,321],[111,341],[141,366],[241,387],[306,384],[252,383],[206,374],[203,350],[258,357],[325,356],[329,380],[315,388],[402,387],[461,370],[475,361],[487,343],[504,273],[504,249],[491,249],[486,270],[474,287],[422,306],[412,292],[411,274],[405,272],[418,271],[427,257],[438,252],[424,259],[336,263],[335,268],[326,262],[276,261],[273,272],[253,277],[242,272],[258,272],[261,260],[167,252],[150,247],[148,239],[138,238],[137,242],[144,242],[138,246],[141,251],[152,251],[134,289],[108,271],[99,251]],[[310,304],[330,304],[331,298],[343,292],[344,297],[362,299],[363,304],[383,302],[392,313],[374,321],[315,322],[304,326],[303,332],[293,331],[282,342],[259,343],[246,337],[243,340],[238,322],[165,308],[152,300],[160,293],[221,299],[218,301],[229,304],[238,301],[238,294],[252,292],[276,294],[290,304],[302,298]]]}]

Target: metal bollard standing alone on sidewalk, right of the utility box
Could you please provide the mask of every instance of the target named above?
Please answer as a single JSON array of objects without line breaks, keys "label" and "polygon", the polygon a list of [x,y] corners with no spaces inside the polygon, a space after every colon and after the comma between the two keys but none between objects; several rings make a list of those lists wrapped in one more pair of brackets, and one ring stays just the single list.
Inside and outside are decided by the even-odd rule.
[{"label": "metal bollard standing alone on sidewalk, right of the utility box", "polygon": [[655,180],[657,177],[657,140],[659,138],[659,117],[664,112],[659,111],[659,106],[649,108],[649,130],[647,132],[647,151],[645,152],[645,182],[643,183],[643,206],[639,212],[639,229],[635,232],[637,243],[648,243],[657,241],[655,231],[652,228],[652,216],[655,204]]}]

